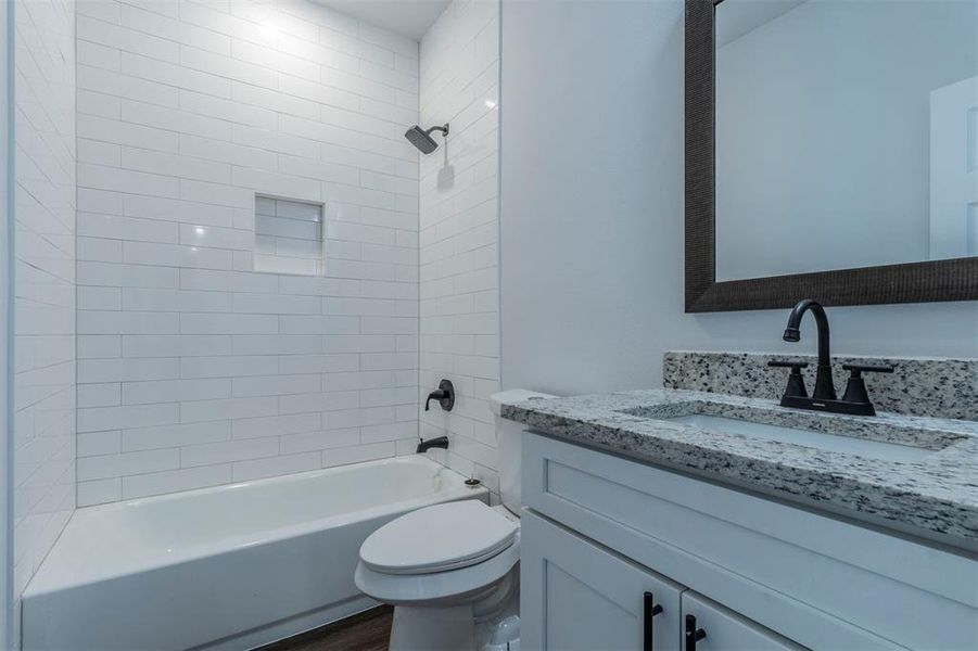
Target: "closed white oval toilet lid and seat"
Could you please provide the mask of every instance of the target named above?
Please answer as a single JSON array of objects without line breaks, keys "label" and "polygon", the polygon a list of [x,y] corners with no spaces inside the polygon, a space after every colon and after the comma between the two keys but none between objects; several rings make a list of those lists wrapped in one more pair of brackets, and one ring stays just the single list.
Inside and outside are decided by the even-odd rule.
[{"label": "closed white oval toilet lid and seat", "polygon": [[467,499],[424,507],[371,534],[360,547],[365,565],[386,574],[427,574],[474,565],[512,545],[519,525],[485,503]]}]

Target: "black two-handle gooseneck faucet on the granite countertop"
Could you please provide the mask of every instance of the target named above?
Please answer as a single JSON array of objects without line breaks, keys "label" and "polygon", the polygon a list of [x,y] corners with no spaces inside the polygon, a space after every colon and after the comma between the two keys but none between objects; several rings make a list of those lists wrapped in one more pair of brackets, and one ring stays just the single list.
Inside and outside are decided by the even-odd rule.
[{"label": "black two-handle gooseneck faucet on the granite countertop", "polygon": [[800,301],[788,316],[788,326],[785,328],[786,342],[801,341],[798,327],[804,312],[811,310],[818,328],[818,366],[815,371],[815,391],[809,397],[804,387],[804,379],[801,369],[808,366],[805,361],[798,360],[772,360],[771,367],[789,367],[788,386],[782,396],[782,407],[796,409],[813,409],[816,411],[831,411],[836,413],[851,413],[853,416],[875,416],[876,408],[869,401],[866,392],[866,383],[863,373],[892,373],[893,367],[842,365],[850,372],[849,383],[846,386],[846,395],[839,400],[836,397],[836,387],[831,378],[831,355],[829,354],[828,317],[825,309],[815,301],[805,298]]}]

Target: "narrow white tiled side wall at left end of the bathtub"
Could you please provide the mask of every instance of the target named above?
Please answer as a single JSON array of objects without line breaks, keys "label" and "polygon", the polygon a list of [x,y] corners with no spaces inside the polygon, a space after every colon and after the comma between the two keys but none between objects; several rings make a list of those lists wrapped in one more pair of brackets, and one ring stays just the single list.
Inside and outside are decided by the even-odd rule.
[{"label": "narrow white tiled side wall at left end of the bathtub", "polygon": [[34,0],[14,15],[17,597],[75,508],[75,11]]}]

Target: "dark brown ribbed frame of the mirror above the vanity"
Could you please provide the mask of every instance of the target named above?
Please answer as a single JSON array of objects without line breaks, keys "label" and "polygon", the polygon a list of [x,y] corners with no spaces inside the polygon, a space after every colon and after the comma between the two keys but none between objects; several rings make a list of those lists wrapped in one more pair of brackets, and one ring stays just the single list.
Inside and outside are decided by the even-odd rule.
[{"label": "dark brown ribbed frame of the mirror above the vanity", "polygon": [[978,299],[978,257],[716,281],[714,4],[686,0],[686,311]]}]

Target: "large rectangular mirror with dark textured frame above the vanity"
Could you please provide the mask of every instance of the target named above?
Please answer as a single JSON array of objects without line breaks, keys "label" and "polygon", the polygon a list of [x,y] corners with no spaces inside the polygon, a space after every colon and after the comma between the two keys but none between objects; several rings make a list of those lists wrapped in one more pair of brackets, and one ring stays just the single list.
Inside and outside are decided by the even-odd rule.
[{"label": "large rectangular mirror with dark textured frame above the vanity", "polygon": [[690,311],[978,297],[978,0],[713,4],[687,1],[687,309],[690,254]]}]

